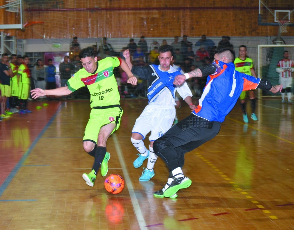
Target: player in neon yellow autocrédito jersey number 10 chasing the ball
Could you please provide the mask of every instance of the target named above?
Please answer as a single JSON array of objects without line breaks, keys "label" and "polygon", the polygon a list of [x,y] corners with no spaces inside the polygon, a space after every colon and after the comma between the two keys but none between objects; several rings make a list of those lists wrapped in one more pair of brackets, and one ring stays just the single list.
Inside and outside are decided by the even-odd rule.
[{"label": "player in neon yellow autocr\u00e9dito jersey number 10 chasing the ball", "polygon": [[83,137],[83,148],[94,157],[94,163],[89,174],[83,173],[83,179],[87,185],[93,187],[100,166],[102,176],[106,176],[108,172],[110,154],[106,152],[106,141],[118,129],[123,114],[113,69],[121,66],[129,77],[129,84],[136,85],[137,78],[131,73],[126,62],[119,57],[106,57],[97,61],[93,47],[82,49],[79,56],[83,69],[66,82],[67,86],[52,90],[37,88],[31,90],[31,95],[34,99],[45,95],[64,96],[83,86],[88,87],[92,110]]}]

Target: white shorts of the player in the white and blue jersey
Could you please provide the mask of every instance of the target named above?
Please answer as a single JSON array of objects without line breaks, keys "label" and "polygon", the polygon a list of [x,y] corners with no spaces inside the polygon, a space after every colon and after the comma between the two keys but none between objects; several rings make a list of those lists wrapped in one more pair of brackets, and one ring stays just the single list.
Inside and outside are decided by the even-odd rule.
[{"label": "white shorts of the player in the white and blue jersey", "polygon": [[174,106],[147,105],[137,118],[132,133],[141,134],[144,140],[151,131],[149,140],[157,140],[171,128],[175,115],[176,109]]}]

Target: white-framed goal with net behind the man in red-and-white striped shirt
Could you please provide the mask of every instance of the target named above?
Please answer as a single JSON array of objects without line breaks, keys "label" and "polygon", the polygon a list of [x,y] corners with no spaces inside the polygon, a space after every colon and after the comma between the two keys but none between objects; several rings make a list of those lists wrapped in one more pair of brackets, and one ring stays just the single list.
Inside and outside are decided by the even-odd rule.
[{"label": "white-framed goal with net behind the man in red-and-white striped shirt", "polygon": [[[283,52],[289,52],[289,59],[294,60],[294,44],[293,45],[258,45],[257,47],[257,76],[259,78],[268,79],[272,85],[279,84],[279,73],[276,72],[278,61],[283,59]],[[293,75],[292,75],[293,76]],[[292,82],[293,84],[293,82]],[[294,92],[293,85],[291,92]],[[258,91],[258,97],[277,97],[280,93]]]}]

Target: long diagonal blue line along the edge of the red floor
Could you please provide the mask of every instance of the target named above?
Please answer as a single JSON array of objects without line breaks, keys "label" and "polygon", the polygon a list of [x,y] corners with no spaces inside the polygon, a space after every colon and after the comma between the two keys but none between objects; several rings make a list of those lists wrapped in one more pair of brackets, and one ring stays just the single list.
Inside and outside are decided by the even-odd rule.
[{"label": "long diagonal blue line along the edge of the red floor", "polygon": [[17,171],[19,171],[19,168],[22,166],[22,164],[24,163],[24,161],[26,160],[26,158],[29,156],[29,154],[31,153],[31,150],[35,147],[36,143],[38,143],[38,141],[41,138],[41,136],[49,128],[49,126],[51,125],[51,123],[53,122],[53,120],[56,118],[57,114],[59,113],[59,111],[62,109],[63,106],[64,106],[64,102],[59,106],[59,108],[56,110],[55,114],[49,120],[49,122],[47,123],[47,125],[44,127],[44,129],[41,131],[41,133],[39,133],[39,135],[33,141],[33,143],[30,145],[30,147],[26,150],[26,152],[24,153],[24,155],[21,157],[21,159],[19,160],[19,162],[16,164],[16,166],[14,167],[14,169],[11,171],[11,173],[9,173],[9,175],[7,176],[7,178],[5,179],[5,181],[3,182],[3,184],[0,186],[0,196],[2,196],[2,193],[5,191],[5,189],[7,188],[7,186],[9,185],[9,183],[11,182],[11,180],[14,178],[15,174],[17,173]]}]

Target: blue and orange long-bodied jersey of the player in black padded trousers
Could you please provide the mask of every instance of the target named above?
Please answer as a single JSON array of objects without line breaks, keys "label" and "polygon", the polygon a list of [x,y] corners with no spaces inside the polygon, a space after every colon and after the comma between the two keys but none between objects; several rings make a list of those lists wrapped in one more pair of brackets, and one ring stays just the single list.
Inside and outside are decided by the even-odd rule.
[{"label": "blue and orange long-bodied jersey of the player in black padded trousers", "polygon": [[242,91],[256,89],[260,78],[240,73],[233,62],[213,62],[216,72],[207,77],[199,105],[192,111],[209,121],[223,122],[233,109]]}]

